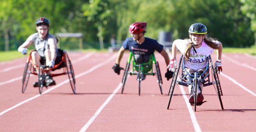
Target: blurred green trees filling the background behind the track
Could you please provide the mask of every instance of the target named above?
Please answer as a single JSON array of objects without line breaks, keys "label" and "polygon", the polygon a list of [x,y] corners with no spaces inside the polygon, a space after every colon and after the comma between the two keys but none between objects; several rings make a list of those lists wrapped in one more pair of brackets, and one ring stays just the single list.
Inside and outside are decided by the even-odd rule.
[{"label": "blurred green trees filling the background behind the track", "polygon": [[105,43],[113,34],[124,40],[136,21],[148,23],[145,36],[153,39],[159,31],[185,39],[191,24],[203,23],[223,46],[250,47],[256,38],[255,7],[255,0],[1,0],[0,50],[6,39],[11,49],[21,45],[36,32],[39,17],[50,19],[51,34],[81,32],[85,47],[92,48],[99,47],[90,44],[99,37]]}]

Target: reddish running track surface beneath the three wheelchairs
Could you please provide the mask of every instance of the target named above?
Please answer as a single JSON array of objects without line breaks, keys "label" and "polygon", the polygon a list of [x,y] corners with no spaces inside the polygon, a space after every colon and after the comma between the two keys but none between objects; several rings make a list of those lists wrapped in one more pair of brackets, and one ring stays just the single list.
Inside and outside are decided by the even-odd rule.
[{"label": "reddish running track surface beneath the three wheelchairs", "polygon": [[[116,94],[113,93],[115,89],[120,88],[123,75],[123,71],[121,75],[116,75],[111,69],[115,63],[115,54],[94,53],[87,59],[78,61],[78,58],[88,54],[90,53],[69,53],[71,61],[77,61],[73,64],[78,77],[76,78],[78,93],[76,95],[72,93],[69,82],[62,83],[68,79],[67,75],[55,77],[57,85],[48,87],[48,90],[55,89],[49,92],[45,92],[46,89],[44,89],[45,94],[42,96],[38,95],[38,88],[32,87],[37,76],[30,77],[26,92],[21,93],[19,77],[23,74],[26,59],[1,63],[0,131],[79,131],[83,126],[85,129],[82,130],[86,131],[256,130],[255,57],[244,54],[224,54],[223,74],[219,77],[225,110],[221,110],[213,86],[207,86],[203,91],[207,102],[197,107],[197,112],[190,113],[188,109],[192,107],[187,107],[181,92],[181,89],[185,89],[185,97],[188,98],[187,87],[176,88],[171,109],[166,109],[171,81],[166,81],[164,78],[166,65],[163,57],[158,53],[156,53],[156,59],[159,61],[164,80],[164,95],[160,94],[156,76],[147,76],[147,79],[142,81],[141,96],[138,95],[138,82],[135,75],[128,78],[124,94],[121,94],[121,89]],[[213,60],[215,56],[212,55]],[[109,59],[111,57],[112,59]],[[121,66],[125,66],[127,57],[126,53]],[[3,71],[21,64],[24,66]],[[251,93],[230,81],[227,76],[249,89]],[[14,78],[16,79],[9,81]],[[28,101],[29,98],[31,100]],[[107,98],[109,102],[102,106]],[[21,104],[24,100],[26,101]],[[17,104],[18,106],[15,106]],[[192,119],[193,114],[196,120]]]}]

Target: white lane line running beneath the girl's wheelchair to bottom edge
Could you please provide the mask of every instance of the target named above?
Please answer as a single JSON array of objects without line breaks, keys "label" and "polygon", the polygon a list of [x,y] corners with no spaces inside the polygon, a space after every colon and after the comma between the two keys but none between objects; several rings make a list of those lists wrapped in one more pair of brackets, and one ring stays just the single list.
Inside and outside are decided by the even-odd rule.
[{"label": "white lane line running beneath the girl's wheelchair to bottom edge", "polygon": [[186,92],[184,90],[184,87],[182,85],[179,85],[180,86],[180,91],[182,93],[182,96],[186,102],[186,105],[187,105],[187,109],[188,109],[188,112],[190,113],[190,118],[191,118],[191,121],[193,123],[193,126],[194,126],[194,131],[195,132],[201,132],[201,128],[197,122],[197,118],[196,118],[196,115],[194,114],[194,110],[193,108],[191,107],[190,103],[188,102],[188,98],[186,96]]}]

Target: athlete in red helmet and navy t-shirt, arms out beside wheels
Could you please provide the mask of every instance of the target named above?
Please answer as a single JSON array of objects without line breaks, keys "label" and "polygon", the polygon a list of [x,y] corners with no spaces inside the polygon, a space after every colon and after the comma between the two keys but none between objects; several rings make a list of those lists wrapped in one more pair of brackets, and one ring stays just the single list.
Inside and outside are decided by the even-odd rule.
[{"label": "athlete in red helmet and navy t-shirt, arms out beside wheels", "polygon": [[[126,38],[126,41],[124,41],[123,46],[121,46],[118,52],[118,55],[116,58],[116,64],[112,67],[114,69],[114,72],[117,73],[118,75],[120,74],[120,71],[123,70],[123,68],[121,68],[119,64],[125,50],[130,50],[130,52],[132,53],[130,54],[128,63],[130,64],[130,60],[132,59],[132,56],[133,56],[134,62],[136,63],[135,65],[137,65],[137,67],[143,67],[143,68],[147,67],[147,66],[144,66],[146,65],[144,63],[148,63],[150,61],[150,57],[152,57],[151,55],[154,54],[154,50],[158,51],[164,57],[166,61],[166,66],[169,64],[170,59],[166,51],[163,50],[163,46],[159,44],[156,40],[150,39],[144,36],[146,32],[146,27],[147,27],[147,23],[144,23],[144,22],[136,22],[130,25],[129,32],[131,33],[132,37],[128,37]],[[127,67],[128,67],[128,64],[126,64],[126,69],[128,70],[129,68]],[[139,70],[137,69],[137,71]],[[139,83],[141,80],[145,80],[146,75],[149,75],[144,71],[140,73],[141,74],[137,74]],[[165,77],[167,78],[167,80],[169,80],[172,77],[172,75],[173,75],[173,72],[167,70]],[[125,83],[124,80],[122,82]]]}]

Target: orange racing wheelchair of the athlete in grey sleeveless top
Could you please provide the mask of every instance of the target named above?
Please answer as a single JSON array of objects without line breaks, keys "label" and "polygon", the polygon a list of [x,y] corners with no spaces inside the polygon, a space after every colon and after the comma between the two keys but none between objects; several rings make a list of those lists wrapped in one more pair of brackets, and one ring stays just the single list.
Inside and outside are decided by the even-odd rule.
[{"label": "orange racing wheelchair of the athlete in grey sleeveless top", "polygon": [[[26,87],[28,84],[28,80],[30,77],[30,74],[33,75],[38,75],[38,88],[39,88],[39,93],[42,94],[43,92],[43,86],[45,86],[45,77],[49,71],[55,71],[57,69],[63,68],[63,72],[61,73],[51,73],[51,77],[56,77],[59,75],[66,75],[68,74],[69,77],[69,82],[71,85],[71,89],[73,93],[76,93],[76,79],[75,79],[75,73],[73,70],[73,66],[71,64],[71,61],[69,59],[69,56],[66,52],[66,50],[60,50],[58,49],[58,52],[61,54],[61,57],[56,57],[55,60],[55,65],[53,68],[49,68],[48,66],[45,66],[44,64],[40,64],[39,66],[36,66],[31,58],[31,53],[34,50],[30,52],[28,55],[28,58],[26,60],[26,65],[23,73],[23,78],[22,78],[22,93],[26,91]],[[36,72],[36,69],[38,69],[38,73]],[[47,86],[45,86],[47,89]]]}]

